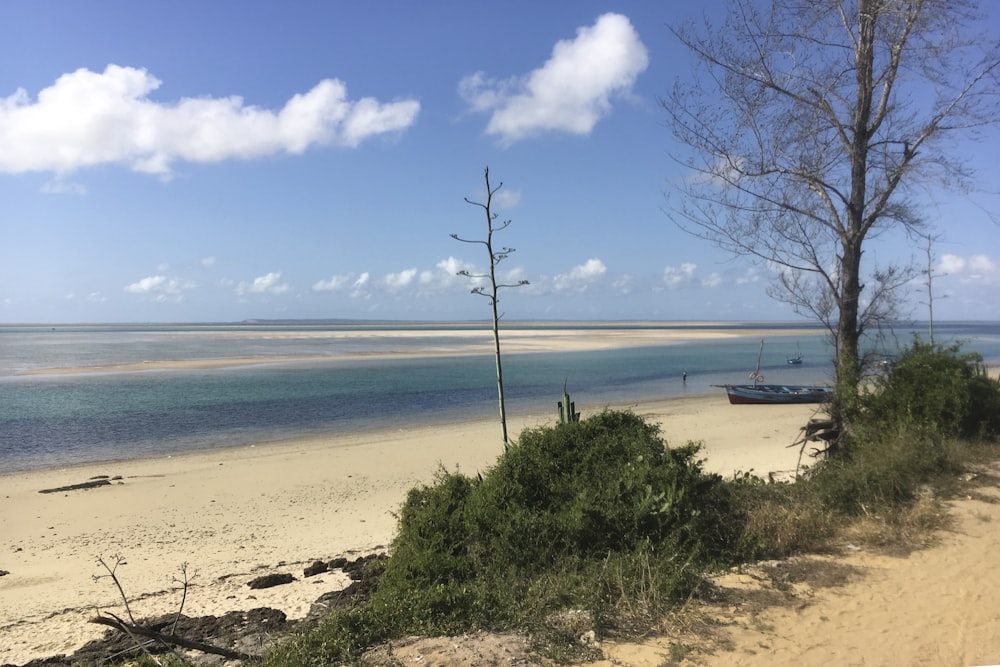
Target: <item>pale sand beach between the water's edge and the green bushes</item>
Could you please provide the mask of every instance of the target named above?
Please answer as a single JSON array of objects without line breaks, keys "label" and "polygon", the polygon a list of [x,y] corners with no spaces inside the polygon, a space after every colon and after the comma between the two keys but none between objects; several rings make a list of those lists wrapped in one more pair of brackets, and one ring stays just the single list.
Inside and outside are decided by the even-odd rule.
[{"label": "pale sand beach between the water's edge and the green bushes", "polygon": [[[661,424],[670,445],[702,440],[705,467],[732,475],[794,471],[788,449],[816,406],[731,406],[724,394],[578,406],[631,409]],[[554,411],[553,411],[554,412]],[[511,433],[551,425],[554,414],[515,415]],[[71,653],[102,629],[86,622],[117,610],[96,559],[126,558],[120,576],[137,615],[176,611],[179,567],[197,576],[185,613],[274,607],[301,618],[346,582],[305,579],[303,564],[384,551],[409,489],[443,466],[472,475],[502,452],[498,420],[375,430],[343,436],[86,464],[0,477],[0,664]],[[107,475],[91,489],[42,494]],[[353,556],[352,556],[353,557]],[[285,586],[250,591],[261,574],[291,573]],[[6,647],[6,648],[3,648]]]}]

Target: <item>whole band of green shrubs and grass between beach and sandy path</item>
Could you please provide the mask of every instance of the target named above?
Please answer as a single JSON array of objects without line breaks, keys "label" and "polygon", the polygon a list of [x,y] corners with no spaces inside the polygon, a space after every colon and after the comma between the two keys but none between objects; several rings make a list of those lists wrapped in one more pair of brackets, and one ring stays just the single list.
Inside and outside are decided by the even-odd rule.
[{"label": "whole band of green shrubs and grass between beach and sandy path", "polygon": [[527,631],[541,654],[572,660],[583,649],[560,612],[651,627],[707,571],[822,549],[846,518],[891,516],[957,477],[955,436],[1000,433],[1000,385],[957,347],[917,341],[862,405],[850,446],[795,483],[724,481],[697,444],[668,447],[627,411],[526,430],[482,476],[441,470],[412,489],[371,599],[265,665],[342,664],[393,638],[475,628]]}]

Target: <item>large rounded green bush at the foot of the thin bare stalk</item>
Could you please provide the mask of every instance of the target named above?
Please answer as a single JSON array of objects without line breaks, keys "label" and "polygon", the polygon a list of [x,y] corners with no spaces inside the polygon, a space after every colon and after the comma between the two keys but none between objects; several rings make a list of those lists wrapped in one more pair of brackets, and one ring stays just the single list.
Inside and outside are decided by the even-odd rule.
[{"label": "large rounded green bush at the foot of the thin bare stalk", "polygon": [[[697,452],[630,412],[526,430],[483,477],[441,471],[409,493],[372,602],[439,633],[596,611],[632,582],[651,600],[686,594],[739,534]],[[639,563],[656,573],[623,573]]]}]

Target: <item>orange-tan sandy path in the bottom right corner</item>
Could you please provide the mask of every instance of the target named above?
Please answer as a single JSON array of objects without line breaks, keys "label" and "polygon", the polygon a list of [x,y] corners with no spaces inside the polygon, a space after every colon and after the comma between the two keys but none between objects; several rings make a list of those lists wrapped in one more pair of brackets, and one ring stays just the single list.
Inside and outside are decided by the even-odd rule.
[{"label": "orange-tan sandy path in the bottom right corner", "polygon": [[[994,467],[992,475],[1000,473]],[[634,644],[607,644],[591,667],[826,667],[1000,665],[1000,489],[948,503],[951,525],[935,543],[908,555],[847,547],[846,555],[794,559],[781,566],[832,565],[826,581],[776,589],[770,575],[722,578],[756,592],[703,610],[712,621],[706,641],[671,632]],[[853,553],[852,553],[853,551]],[[770,598],[770,601],[768,599]],[[763,600],[763,602],[761,602]],[[677,647],[690,651],[679,662]],[[682,653],[683,654],[683,653]]]}]

